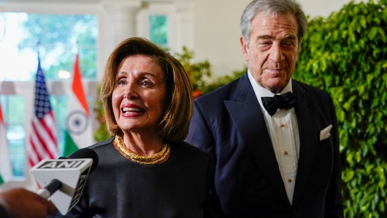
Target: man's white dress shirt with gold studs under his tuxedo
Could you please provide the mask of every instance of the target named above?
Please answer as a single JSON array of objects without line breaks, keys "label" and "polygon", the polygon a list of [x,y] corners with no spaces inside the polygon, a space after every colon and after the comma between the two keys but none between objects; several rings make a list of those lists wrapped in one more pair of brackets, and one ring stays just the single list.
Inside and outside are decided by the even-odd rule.
[{"label": "man's white dress shirt with gold studs under his tuxedo", "polygon": [[[270,139],[273,144],[274,153],[276,154],[285,191],[291,204],[294,185],[296,182],[298,154],[300,150],[300,139],[294,108],[278,109],[273,116],[270,116],[262,104],[261,97],[273,97],[275,94],[257,84],[249,71],[247,71],[247,74],[255,96],[260,102],[261,111],[263,112],[266,127],[268,128]],[[291,79],[285,88],[277,94],[284,94],[289,91],[292,92]]]}]

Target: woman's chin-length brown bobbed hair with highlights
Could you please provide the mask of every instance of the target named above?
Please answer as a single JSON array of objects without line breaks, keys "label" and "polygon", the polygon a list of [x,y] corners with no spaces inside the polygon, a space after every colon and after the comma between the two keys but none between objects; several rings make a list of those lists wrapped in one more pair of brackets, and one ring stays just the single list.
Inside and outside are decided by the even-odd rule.
[{"label": "woman's chin-length brown bobbed hair with highlights", "polygon": [[183,141],[192,115],[192,88],[183,66],[168,52],[147,39],[133,37],[123,40],[107,60],[101,86],[101,100],[111,136],[122,135],[113,113],[111,96],[115,77],[122,60],[129,56],[146,55],[157,61],[164,73],[167,87],[167,109],[159,123],[160,135],[167,141]]}]

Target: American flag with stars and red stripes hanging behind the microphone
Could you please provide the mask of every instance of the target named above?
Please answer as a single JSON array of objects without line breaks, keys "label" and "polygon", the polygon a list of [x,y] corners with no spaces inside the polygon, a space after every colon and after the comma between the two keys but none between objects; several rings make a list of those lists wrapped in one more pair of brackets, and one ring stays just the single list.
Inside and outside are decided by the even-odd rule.
[{"label": "American flag with stars and red stripes hanging behind the microphone", "polygon": [[31,167],[42,159],[57,157],[55,119],[49,97],[38,59],[35,81],[35,110],[32,118],[31,136],[27,145],[27,156]]}]

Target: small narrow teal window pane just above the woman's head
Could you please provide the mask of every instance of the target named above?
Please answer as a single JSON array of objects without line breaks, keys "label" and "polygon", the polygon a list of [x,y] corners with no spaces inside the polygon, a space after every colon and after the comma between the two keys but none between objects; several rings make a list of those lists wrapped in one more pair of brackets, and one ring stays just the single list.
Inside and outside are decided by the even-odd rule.
[{"label": "small narrow teal window pane just above the woman's head", "polygon": [[150,40],[159,44],[160,46],[167,47],[168,41],[168,23],[166,15],[151,15],[149,17],[150,22]]}]

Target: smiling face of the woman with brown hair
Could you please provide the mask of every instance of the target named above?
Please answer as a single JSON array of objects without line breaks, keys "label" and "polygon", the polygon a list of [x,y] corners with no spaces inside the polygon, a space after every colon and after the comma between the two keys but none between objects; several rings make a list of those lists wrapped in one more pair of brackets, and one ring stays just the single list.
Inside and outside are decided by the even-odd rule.
[{"label": "smiling face of the woman with brown hair", "polygon": [[118,67],[115,82],[112,105],[120,129],[157,132],[167,101],[165,77],[159,63],[145,55],[126,57]]}]

